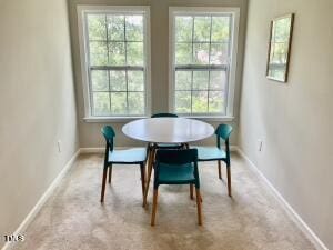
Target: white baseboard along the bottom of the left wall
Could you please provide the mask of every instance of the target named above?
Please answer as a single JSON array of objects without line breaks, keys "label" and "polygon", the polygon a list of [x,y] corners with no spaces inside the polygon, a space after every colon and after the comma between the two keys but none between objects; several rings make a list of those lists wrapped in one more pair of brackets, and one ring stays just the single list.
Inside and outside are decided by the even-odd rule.
[{"label": "white baseboard along the bottom of the left wall", "polygon": [[[50,196],[53,193],[54,189],[58,187],[62,178],[67,174],[67,172],[70,170],[70,168],[73,166],[73,162],[77,160],[78,156],[80,154],[80,149],[74,153],[74,156],[67,162],[67,164],[63,167],[63,169],[60,171],[58,177],[52,181],[52,183],[49,186],[47,191],[42,194],[42,197],[38,200],[36,206],[31,209],[31,211],[28,213],[28,216],[24,218],[24,220],[21,222],[21,224],[18,227],[18,229],[12,233],[13,236],[18,236],[22,233],[27,227],[31,223],[31,221],[34,219],[37,213],[41,210],[43,204],[47,202],[47,200],[50,198]],[[7,250],[12,242],[6,242],[1,250]]]}]

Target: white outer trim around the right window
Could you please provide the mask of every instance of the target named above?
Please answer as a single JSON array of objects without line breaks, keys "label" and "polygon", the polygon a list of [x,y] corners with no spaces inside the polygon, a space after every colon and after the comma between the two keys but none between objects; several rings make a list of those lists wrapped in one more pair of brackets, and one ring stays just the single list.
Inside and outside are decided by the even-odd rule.
[{"label": "white outer trim around the right window", "polygon": [[233,117],[234,106],[234,89],[235,89],[235,76],[236,76],[236,57],[238,57],[238,37],[239,37],[239,22],[240,22],[240,8],[224,8],[224,7],[169,7],[169,111],[174,112],[175,101],[175,27],[174,18],[176,14],[231,14],[233,17],[232,23],[232,37],[231,37],[231,61],[229,72],[229,88],[228,88],[228,100],[226,100],[226,113],[225,116],[220,114],[191,114],[191,118],[203,118],[211,120],[225,120],[230,121]]}]

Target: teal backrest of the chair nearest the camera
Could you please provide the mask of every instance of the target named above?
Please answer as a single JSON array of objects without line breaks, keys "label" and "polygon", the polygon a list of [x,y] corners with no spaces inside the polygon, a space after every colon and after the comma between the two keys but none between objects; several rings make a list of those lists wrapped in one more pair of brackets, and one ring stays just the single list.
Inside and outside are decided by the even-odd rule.
[{"label": "teal backrest of the chair nearest the camera", "polygon": [[[182,168],[182,166],[193,164],[193,174],[195,178],[195,187],[199,188],[198,172],[198,149],[160,149],[157,151],[155,174],[159,176],[160,163],[170,166],[169,168]],[[154,187],[158,187],[158,178],[154,180]]]}]

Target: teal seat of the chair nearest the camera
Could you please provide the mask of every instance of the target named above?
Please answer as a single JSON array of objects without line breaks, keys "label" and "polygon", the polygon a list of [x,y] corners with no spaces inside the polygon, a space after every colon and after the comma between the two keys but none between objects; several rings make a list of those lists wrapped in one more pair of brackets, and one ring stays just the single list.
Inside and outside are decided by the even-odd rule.
[{"label": "teal seat of the chair nearest the camera", "polygon": [[194,182],[194,167],[186,164],[159,164],[158,182],[160,184],[183,184]]}]

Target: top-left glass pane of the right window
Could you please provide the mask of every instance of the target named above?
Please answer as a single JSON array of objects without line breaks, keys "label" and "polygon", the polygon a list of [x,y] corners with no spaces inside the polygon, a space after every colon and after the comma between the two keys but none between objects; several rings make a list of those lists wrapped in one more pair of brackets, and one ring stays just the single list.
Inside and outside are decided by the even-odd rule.
[{"label": "top-left glass pane of the right window", "polygon": [[193,18],[175,17],[175,41],[192,41]]}]

